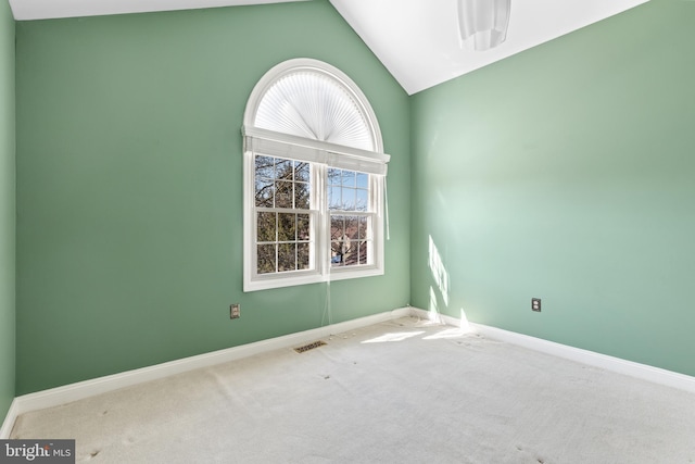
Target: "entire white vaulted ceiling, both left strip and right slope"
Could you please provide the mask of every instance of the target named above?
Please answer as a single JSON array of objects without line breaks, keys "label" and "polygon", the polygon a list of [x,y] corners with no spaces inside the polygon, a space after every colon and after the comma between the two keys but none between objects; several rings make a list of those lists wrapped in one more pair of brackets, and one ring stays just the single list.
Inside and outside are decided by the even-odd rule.
[{"label": "entire white vaulted ceiling, both left strip and right slope", "polygon": [[[16,20],[189,10],[303,0],[10,0]],[[511,0],[507,40],[459,47],[457,0],[330,0],[409,93],[435,86],[648,0]]]}]

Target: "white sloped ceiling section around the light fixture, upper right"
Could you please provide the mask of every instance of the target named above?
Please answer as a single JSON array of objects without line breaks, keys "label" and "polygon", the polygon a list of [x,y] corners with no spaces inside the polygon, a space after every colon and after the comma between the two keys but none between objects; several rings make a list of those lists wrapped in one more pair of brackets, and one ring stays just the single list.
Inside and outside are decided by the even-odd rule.
[{"label": "white sloped ceiling section around the light fixture, upper right", "polygon": [[408,95],[647,1],[511,0],[507,40],[475,52],[459,47],[456,0],[330,0]]}]

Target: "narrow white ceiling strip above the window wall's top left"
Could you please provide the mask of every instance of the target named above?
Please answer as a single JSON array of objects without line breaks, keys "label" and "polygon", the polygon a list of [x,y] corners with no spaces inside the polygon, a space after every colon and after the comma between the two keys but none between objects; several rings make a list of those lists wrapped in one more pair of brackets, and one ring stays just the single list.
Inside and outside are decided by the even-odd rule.
[{"label": "narrow white ceiling strip above the window wall's top left", "polygon": [[306,0],[10,0],[16,21],[194,10]]}]

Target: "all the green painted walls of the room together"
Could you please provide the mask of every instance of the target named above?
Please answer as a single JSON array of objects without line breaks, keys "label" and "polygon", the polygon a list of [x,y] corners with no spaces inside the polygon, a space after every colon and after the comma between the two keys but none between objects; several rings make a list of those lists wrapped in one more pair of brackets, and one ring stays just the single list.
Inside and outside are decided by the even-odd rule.
[{"label": "all the green painted walls of the room together", "polygon": [[0,15],[0,416],[15,392],[325,322],[326,285],[241,290],[242,114],[298,57],[361,86],[392,154],[387,274],[331,284],[333,322],[410,302],[695,375],[695,3],[412,98],[326,0]]}]

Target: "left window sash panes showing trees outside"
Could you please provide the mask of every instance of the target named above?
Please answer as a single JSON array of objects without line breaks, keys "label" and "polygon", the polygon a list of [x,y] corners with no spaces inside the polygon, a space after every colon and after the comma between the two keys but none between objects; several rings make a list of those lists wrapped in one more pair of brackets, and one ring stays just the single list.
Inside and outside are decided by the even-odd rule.
[{"label": "left window sash panes showing trees outside", "polygon": [[311,165],[255,156],[258,274],[311,268]]}]

